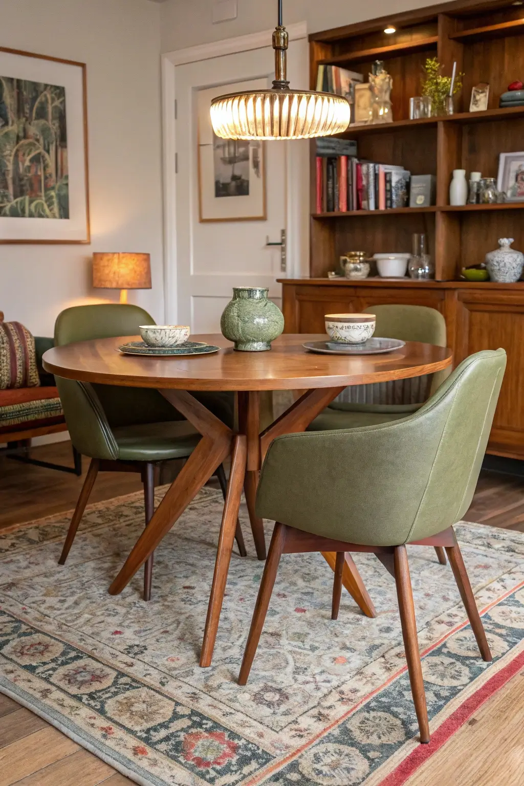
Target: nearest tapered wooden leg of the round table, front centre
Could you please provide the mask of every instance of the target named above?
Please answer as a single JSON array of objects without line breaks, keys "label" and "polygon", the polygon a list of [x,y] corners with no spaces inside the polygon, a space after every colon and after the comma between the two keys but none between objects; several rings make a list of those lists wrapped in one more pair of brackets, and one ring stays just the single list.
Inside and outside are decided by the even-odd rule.
[{"label": "nearest tapered wooden leg of the round table, front centre", "polygon": [[229,561],[235,539],[236,517],[240,508],[240,494],[242,481],[246,468],[246,438],[238,435],[233,440],[233,454],[231,459],[231,472],[225,495],[222,526],[218,536],[217,559],[214,564],[213,584],[207,607],[206,628],[203,634],[202,652],[200,653],[200,666],[211,666],[214,641],[217,637],[218,620],[224,600],[225,582],[229,571]]}]

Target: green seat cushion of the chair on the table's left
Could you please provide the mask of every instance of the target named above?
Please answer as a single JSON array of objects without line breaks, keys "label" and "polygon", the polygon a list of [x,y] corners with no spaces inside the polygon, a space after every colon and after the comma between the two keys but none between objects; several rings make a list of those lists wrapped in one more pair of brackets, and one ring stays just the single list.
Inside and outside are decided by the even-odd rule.
[{"label": "green seat cushion of the chair on the table's left", "polygon": [[201,439],[188,421],[117,426],[112,432],[121,461],[187,458]]}]

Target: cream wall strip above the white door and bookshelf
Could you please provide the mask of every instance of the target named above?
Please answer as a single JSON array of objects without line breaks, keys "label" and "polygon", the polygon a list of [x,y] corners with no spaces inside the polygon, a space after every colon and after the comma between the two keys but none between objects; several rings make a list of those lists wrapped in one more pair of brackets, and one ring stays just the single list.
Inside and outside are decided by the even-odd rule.
[{"label": "cream wall strip above the white door and bookshelf", "polygon": [[[433,0],[284,0],[284,24],[307,22],[309,33],[413,8]],[[277,24],[277,0],[238,0],[235,20],[212,24],[213,0],[167,0],[160,6],[163,52],[233,38]]]}]

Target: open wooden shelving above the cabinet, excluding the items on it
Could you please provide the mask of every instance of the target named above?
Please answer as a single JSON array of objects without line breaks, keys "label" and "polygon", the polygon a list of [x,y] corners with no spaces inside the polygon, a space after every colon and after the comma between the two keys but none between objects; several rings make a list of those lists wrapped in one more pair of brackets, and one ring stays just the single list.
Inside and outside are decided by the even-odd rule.
[{"label": "open wooden shelving above the cabinet, excluding the items on it", "polygon": [[[311,167],[312,277],[324,277],[350,249],[368,253],[409,252],[411,235],[426,232],[438,281],[454,281],[463,266],[482,262],[499,237],[515,237],[524,251],[524,203],[449,205],[453,169],[497,177],[500,152],[524,149],[524,107],[499,108],[500,94],[524,74],[524,8],[509,2],[459,0],[310,35],[310,78],[319,64],[348,65],[367,78],[372,61],[387,60],[393,77],[394,122],[350,127],[357,156],[397,164],[412,174],[434,174],[437,200],[431,208],[316,212],[316,172]],[[397,32],[383,30],[393,24]],[[422,68],[437,55],[445,73],[453,61],[464,72],[452,116],[409,119],[409,98],[420,95]],[[471,88],[489,83],[486,112],[469,112]],[[311,141],[312,162],[315,141]]]}]

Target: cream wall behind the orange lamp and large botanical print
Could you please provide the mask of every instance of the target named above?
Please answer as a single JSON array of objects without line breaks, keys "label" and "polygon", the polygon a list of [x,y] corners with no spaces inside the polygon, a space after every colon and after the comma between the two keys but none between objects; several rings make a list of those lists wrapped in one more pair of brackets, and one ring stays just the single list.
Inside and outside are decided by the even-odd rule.
[{"label": "cream wall behind the orange lamp and large botanical print", "polygon": [[149,252],[153,288],[130,302],[163,320],[159,14],[146,0],[0,0],[0,46],[87,64],[91,244],[0,244],[0,310],[37,335],[64,307],[118,299],[91,287],[93,251]]}]

